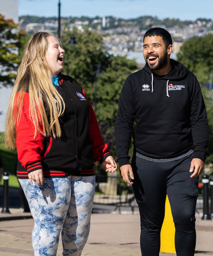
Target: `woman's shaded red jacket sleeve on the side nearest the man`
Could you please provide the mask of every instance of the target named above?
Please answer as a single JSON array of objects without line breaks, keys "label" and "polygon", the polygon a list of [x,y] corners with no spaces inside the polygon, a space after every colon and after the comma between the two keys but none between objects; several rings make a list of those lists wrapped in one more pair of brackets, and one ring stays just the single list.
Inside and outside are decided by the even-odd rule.
[{"label": "woman's shaded red jacket sleeve on the side nearest the man", "polygon": [[[85,96],[84,90],[83,94]],[[89,137],[92,143],[92,150],[94,152],[95,162],[99,161],[100,163],[102,163],[111,154],[109,153],[108,145],[103,142],[101,131],[99,129],[92,105],[88,99],[87,102],[89,104]]]}]

